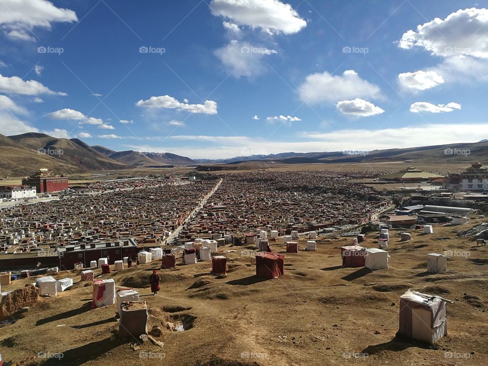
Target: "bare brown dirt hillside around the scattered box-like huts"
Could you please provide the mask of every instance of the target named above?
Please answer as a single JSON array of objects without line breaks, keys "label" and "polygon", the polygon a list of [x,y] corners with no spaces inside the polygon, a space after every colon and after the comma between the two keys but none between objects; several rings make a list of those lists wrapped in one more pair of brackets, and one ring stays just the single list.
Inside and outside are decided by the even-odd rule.
[{"label": "bare brown dirt hillside around the scattered box-like huts", "polygon": [[[488,357],[488,247],[458,238],[459,226],[435,226],[434,234],[412,233],[400,241],[390,230],[389,268],[342,268],[340,247],[350,238],[319,236],[317,252],[285,253],[285,275],[264,280],[250,264],[252,247],[220,247],[228,273],[209,274],[211,263],[162,269],[161,291],[153,296],[148,277],[156,262],[95,276],[139,291],[149,309],[148,329],[159,326],[164,342],[134,350],[135,340],[117,338],[115,305],[92,309],[92,286],[78,271],[59,272],[74,286],[57,297],[42,298],[15,323],[0,326],[4,365],[481,365]],[[376,248],[377,233],[367,234]],[[283,239],[270,242],[284,252]],[[299,248],[305,247],[305,238]],[[446,253],[448,271],[426,273],[426,254]],[[181,263],[181,256],[176,263]],[[34,282],[17,280],[2,290]],[[448,335],[431,346],[395,338],[400,295],[408,288],[438,294],[447,305]],[[184,323],[171,331],[168,322]],[[138,348],[138,347],[135,347]],[[61,357],[62,355],[62,357]]]}]

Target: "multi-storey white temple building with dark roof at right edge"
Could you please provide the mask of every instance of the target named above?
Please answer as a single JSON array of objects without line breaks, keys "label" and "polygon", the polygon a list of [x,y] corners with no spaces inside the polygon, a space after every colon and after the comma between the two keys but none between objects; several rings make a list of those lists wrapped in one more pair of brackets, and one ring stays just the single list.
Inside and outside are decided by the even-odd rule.
[{"label": "multi-storey white temple building with dark roof at right edge", "polygon": [[444,188],[462,192],[488,190],[488,168],[480,162],[471,163],[461,173],[445,177],[443,185]]}]

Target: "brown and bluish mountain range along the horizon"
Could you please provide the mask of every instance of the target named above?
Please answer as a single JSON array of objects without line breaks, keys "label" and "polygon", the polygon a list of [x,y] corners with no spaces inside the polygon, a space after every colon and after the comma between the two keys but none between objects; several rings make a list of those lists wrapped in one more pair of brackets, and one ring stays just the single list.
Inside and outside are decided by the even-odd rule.
[{"label": "brown and bluish mountain range along the horizon", "polygon": [[172,165],[197,166],[208,170],[210,165],[221,169],[235,169],[246,162],[282,164],[361,163],[404,161],[429,162],[488,162],[488,139],[477,143],[420,146],[373,151],[332,151],[316,153],[281,153],[271,155],[239,156],[231,159],[195,159],[170,153],[140,153],[114,151],[104,146],[89,146],[80,139],[55,138],[42,133],[22,135],[0,134],[0,169],[4,175],[22,176],[41,167],[59,173],[80,173],[135,167],[165,167]]}]

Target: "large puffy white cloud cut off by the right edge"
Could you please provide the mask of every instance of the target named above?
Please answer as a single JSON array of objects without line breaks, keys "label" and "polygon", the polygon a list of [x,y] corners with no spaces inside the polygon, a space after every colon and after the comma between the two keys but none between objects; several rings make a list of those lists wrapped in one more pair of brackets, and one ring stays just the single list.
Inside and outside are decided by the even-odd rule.
[{"label": "large puffy white cloud cut off by the right edge", "polygon": [[465,9],[445,19],[417,25],[417,32],[408,31],[399,42],[401,48],[423,47],[439,56],[470,55],[488,58],[488,10]]}]

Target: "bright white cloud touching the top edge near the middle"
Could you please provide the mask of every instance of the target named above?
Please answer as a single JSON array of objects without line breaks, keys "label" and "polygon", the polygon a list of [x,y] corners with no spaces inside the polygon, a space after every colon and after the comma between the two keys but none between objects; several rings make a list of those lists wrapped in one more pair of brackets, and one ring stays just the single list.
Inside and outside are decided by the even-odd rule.
[{"label": "bright white cloud touching the top edge near the middle", "polygon": [[268,33],[293,34],[307,26],[291,5],[278,0],[212,0],[213,15]]}]

